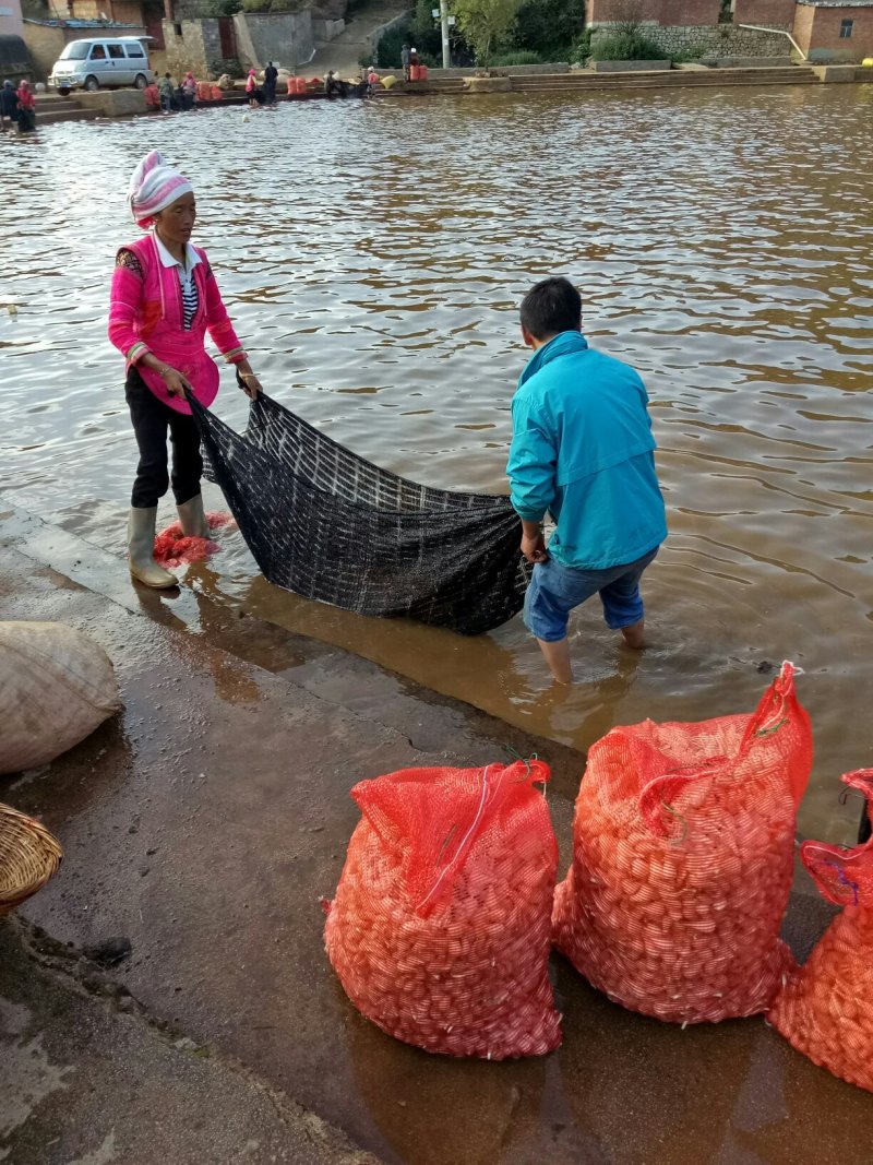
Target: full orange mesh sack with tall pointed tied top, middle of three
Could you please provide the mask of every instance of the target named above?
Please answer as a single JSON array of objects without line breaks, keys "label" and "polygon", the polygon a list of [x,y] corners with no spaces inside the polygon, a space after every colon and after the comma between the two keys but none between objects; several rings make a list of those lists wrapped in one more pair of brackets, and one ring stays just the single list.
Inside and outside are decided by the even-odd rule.
[{"label": "full orange mesh sack with tall pointed tied top, middle of three", "polygon": [[588,754],[555,946],[659,1019],[766,1010],[793,965],[779,931],[811,764],[789,663],[752,715],[615,728]]}]

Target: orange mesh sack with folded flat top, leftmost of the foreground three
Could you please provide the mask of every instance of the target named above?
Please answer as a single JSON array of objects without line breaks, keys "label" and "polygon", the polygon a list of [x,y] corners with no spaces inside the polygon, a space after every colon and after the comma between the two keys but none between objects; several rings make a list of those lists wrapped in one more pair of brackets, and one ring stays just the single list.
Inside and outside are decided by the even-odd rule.
[{"label": "orange mesh sack with folded flat top, leftmost of the foreground three", "polygon": [[428,1052],[503,1060],[561,1043],[548,980],[558,848],[540,761],[404,769],[352,790],[325,945],[346,994]]}]

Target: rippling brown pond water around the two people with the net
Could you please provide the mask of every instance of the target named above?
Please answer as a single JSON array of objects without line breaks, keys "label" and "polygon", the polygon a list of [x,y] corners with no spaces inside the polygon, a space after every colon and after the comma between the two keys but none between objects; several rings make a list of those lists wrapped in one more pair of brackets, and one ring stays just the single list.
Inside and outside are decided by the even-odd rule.
[{"label": "rippling brown pond water around the two people with the net", "polygon": [[[569,274],[589,339],[652,396],[670,538],[641,657],[589,605],[580,682],[556,691],[519,620],[471,641],[364,620],[270,587],[233,535],[191,584],[580,748],[751,708],[757,665],[793,658],[817,749],[801,828],[849,840],[836,778],[873,764],[872,126],[858,85],[313,103],[0,142],[0,490],[121,552],[135,452],[105,305],[152,146],[197,184],[268,390],[428,483],[505,490],[517,304]],[[217,408],[244,425],[229,379]],[[165,601],[199,628],[190,593]]]}]

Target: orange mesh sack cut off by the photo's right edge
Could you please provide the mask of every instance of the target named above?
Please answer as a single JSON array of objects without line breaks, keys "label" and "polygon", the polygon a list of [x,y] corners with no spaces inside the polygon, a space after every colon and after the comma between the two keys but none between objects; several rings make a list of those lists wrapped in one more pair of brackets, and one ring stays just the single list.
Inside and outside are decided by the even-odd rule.
[{"label": "orange mesh sack cut off by the photo's right edge", "polygon": [[[843,781],[873,804],[873,769]],[[873,1092],[873,838],[850,850],[804,841],[801,856],[824,897],[844,909],[789,975],[769,1021],[814,1064]]]}]

